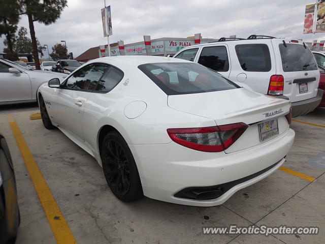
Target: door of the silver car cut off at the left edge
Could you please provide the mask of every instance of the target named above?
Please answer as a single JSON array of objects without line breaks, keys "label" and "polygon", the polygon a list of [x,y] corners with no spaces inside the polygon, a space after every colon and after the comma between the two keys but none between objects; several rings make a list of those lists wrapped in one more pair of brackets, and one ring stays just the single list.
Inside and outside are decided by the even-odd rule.
[{"label": "door of the silver car cut off at the left edge", "polygon": [[[9,72],[15,68],[0,61],[0,103],[31,100],[31,83],[28,74]],[[16,69],[16,68],[15,68]]]}]

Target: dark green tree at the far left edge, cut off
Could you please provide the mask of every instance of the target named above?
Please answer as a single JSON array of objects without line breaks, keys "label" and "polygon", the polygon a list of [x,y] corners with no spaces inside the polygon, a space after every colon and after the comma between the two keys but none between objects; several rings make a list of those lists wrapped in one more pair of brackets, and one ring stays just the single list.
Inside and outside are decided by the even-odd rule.
[{"label": "dark green tree at the far left edge, cut off", "polygon": [[0,0],[0,37],[6,36],[8,48],[4,50],[7,54],[14,54],[15,33],[19,21],[18,0]]}]

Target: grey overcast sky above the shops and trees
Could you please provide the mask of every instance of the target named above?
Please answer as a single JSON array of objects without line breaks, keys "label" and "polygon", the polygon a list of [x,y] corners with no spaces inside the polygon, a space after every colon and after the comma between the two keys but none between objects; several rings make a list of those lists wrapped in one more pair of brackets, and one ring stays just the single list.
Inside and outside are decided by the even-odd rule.
[{"label": "grey overcast sky above the shops and trees", "polygon": [[[111,5],[113,36],[110,42],[124,44],[161,37],[185,38],[201,33],[203,38],[251,34],[270,35],[311,41],[303,35],[305,5],[315,0],[107,0]],[[90,47],[107,44],[103,37],[101,8],[104,0],[68,0],[68,7],[54,24],[35,23],[36,36],[42,45],[51,47],[61,40],[77,57]],[[19,26],[28,29],[23,16]],[[315,34],[325,39],[325,33]],[[0,40],[3,51],[4,36]],[[45,55],[47,57],[47,53]]]}]

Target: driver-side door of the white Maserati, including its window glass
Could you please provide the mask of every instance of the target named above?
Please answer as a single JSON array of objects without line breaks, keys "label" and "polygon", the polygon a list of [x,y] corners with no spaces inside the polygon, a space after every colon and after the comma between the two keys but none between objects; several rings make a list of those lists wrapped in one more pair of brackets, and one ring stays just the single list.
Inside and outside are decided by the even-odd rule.
[{"label": "driver-side door of the white Maserati, including its window glass", "polygon": [[53,121],[78,140],[83,141],[83,114],[85,104],[107,64],[90,64],[74,72],[61,88],[53,92]]}]

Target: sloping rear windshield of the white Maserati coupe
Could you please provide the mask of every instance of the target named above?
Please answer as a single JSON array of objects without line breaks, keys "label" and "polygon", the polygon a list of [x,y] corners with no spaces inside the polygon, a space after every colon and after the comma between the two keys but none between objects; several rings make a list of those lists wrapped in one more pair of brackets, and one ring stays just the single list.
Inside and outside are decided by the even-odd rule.
[{"label": "sloping rear windshield of the white Maserati coupe", "polygon": [[240,87],[196,63],[154,63],[138,68],[167,95],[207,93]]}]

